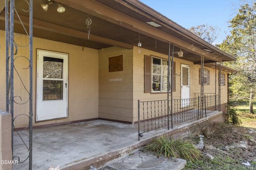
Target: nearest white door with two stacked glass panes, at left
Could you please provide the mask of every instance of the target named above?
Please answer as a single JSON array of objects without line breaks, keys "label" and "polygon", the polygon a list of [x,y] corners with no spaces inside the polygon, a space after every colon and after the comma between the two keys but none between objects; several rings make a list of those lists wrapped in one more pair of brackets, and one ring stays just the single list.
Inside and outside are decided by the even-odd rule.
[{"label": "nearest white door with two stacked glass panes, at left", "polygon": [[68,54],[37,50],[36,121],[68,115]]}]

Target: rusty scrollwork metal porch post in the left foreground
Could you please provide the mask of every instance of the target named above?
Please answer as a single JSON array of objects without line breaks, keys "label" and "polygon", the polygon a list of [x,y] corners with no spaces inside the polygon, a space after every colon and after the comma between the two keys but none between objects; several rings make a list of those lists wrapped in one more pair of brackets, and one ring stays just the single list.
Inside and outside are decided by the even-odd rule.
[{"label": "rusty scrollwork metal porch post in the left foreground", "polygon": [[[18,159],[18,163],[23,163],[26,160],[29,160],[29,170],[32,170],[32,21],[33,21],[33,0],[29,2],[24,0],[24,3],[27,4],[28,10],[22,9],[24,12],[29,12],[29,31],[26,30],[22,20],[19,17],[19,14],[15,8],[15,0],[5,0],[5,31],[6,31],[6,111],[12,115],[12,155],[13,159]],[[14,37],[19,35],[14,33],[14,12],[18,17],[18,21],[23,26],[26,35],[28,36],[29,42],[28,44],[19,44],[15,42]],[[19,48],[28,48],[29,47],[29,57],[18,55]],[[26,70],[29,70],[29,85],[27,86],[24,80],[22,79],[21,73],[19,73],[17,66],[15,65],[15,61],[17,59],[24,59],[29,64]],[[14,74],[18,78],[14,80]],[[27,94],[28,98],[24,99],[24,96],[14,96],[15,89],[14,85],[18,85],[21,83],[21,88],[23,88],[24,92]],[[15,113],[16,117],[14,117],[14,107],[19,105],[28,105],[29,104],[29,113]],[[14,120],[18,117],[25,115],[28,117],[28,127],[29,127],[29,143],[26,143],[24,138],[16,131],[20,140],[24,143],[24,146],[28,150],[28,156],[26,158],[20,158],[18,155],[14,155],[14,130],[16,130],[14,126]]]}]

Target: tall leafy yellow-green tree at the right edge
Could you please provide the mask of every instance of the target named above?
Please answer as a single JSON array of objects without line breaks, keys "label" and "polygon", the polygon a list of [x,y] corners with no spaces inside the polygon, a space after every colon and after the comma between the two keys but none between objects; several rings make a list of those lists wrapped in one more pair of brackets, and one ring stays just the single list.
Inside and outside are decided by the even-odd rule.
[{"label": "tall leafy yellow-green tree at the right edge", "polygon": [[241,5],[229,22],[231,35],[217,47],[237,57],[237,61],[228,64],[239,71],[231,78],[230,89],[237,99],[250,99],[250,112],[253,113],[252,99],[256,92],[256,2]]}]

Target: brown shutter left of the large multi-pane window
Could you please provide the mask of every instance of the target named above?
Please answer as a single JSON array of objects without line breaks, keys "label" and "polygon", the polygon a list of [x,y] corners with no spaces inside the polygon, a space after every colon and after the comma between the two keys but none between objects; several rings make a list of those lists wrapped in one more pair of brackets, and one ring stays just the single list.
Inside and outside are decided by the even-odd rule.
[{"label": "brown shutter left of the large multi-pane window", "polygon": [[144,93],[151,92],[151,57],[144,55]]}]

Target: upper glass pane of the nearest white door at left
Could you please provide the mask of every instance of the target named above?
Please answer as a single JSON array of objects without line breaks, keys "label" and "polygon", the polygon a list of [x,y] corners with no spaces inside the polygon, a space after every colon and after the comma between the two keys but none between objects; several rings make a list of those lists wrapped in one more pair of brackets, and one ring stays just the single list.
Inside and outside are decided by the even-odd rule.
[{"label": "upper glass pane of the nearest white door at left", "polygon": [[63,78],[63,59],[44,57],[43,78]]}]

